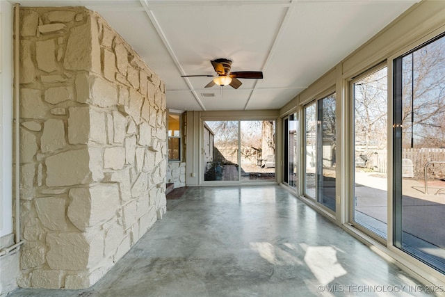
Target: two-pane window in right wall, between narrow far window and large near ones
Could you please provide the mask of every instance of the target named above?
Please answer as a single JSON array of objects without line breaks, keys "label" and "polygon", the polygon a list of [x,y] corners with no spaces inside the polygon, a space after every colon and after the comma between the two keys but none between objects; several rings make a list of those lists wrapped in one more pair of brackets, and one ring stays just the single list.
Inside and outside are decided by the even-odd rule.
[{"label": "two-pane window in right wall, between narrow far window and large near ones", "polygon": [[335,94],[305,107],[305,195],[335,211]]}]

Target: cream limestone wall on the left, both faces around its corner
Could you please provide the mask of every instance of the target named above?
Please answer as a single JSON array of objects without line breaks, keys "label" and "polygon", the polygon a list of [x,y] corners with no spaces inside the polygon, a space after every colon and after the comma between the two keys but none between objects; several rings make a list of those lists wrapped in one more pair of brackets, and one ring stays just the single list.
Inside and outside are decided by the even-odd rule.
[{"label": "cream limestone wall on the left, both faces around its corner", "polygon": [[20,19],[18,284],[90,287],[165,213],[165,85],[86,8]]}]

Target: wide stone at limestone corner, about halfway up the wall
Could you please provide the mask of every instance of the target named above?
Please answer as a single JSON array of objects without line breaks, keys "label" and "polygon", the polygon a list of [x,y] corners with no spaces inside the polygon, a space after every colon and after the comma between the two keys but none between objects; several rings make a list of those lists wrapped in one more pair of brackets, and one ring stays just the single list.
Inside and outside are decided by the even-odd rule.
[{"label": "wide stone at limestone corner, about halfway up the wall", "polygon": [[98,172],[97,169],[90,169],[90,151],[87,148],[48,156],[45,164],[47,167],[47,186],[89,184],[95,179],[99,179],[101,175],[101,172]]}]

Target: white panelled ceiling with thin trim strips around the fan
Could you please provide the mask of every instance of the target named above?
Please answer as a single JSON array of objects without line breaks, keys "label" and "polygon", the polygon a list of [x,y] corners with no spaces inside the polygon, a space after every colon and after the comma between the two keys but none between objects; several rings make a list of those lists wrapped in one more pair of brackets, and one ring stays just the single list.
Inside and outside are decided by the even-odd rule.
[{"label": "white panelled ceiling with thin trim strips around the fan", "polygon": [[[9,0],[8,0],[9,1]],[[177,111],[280,109],[414,0],[23,0],[22,6],[86,6],[95,10],[165,81]],[[210,61],[229,58],[232,71],[264,79],[204,88]]]}]

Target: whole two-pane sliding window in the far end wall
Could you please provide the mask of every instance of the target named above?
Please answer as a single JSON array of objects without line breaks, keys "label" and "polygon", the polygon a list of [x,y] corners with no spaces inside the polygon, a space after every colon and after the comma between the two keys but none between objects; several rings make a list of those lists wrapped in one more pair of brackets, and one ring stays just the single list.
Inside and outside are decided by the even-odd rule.
[{"label": "whole two-pane sliding window in the far end wall", "polygon": [[204,121],[204,181],[275,182],[275,121]]}]

